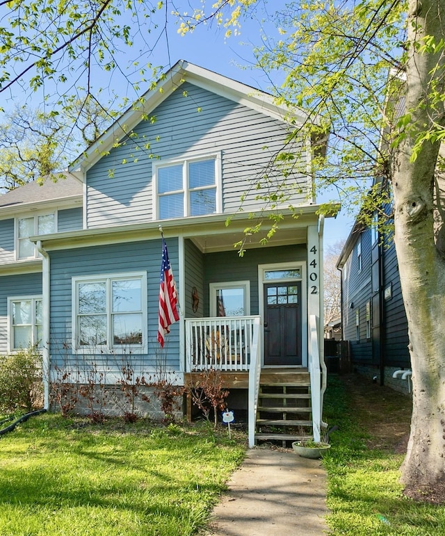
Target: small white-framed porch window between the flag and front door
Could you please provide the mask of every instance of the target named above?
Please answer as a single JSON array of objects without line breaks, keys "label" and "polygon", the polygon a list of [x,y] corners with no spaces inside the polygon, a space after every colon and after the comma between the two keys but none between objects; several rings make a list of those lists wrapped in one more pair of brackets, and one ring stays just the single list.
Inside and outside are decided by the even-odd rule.
[{"label": "small white-framed porch window between the flag and front door", "polygon": [[250,282],[211,283],[210,316],[249,316]]}]

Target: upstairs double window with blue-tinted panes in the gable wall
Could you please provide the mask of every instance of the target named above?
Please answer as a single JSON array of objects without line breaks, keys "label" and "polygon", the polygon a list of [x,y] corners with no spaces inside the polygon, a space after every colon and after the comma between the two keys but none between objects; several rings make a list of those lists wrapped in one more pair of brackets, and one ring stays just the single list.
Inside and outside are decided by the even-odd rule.
[{"label": "upstairs double window with blue-tinted panes in the gable wall", "polygon": [[155,165],[155,217],[167,220],[220,211],[219,166],[218,156]]}]

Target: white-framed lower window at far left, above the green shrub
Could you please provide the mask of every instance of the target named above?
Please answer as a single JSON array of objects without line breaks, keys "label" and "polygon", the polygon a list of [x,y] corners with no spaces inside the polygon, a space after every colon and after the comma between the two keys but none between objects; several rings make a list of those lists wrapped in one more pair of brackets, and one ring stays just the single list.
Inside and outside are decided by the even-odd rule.
[{"label": "white-framed lower window at far left, above the green shrub", "polygon": [[30,346],[42,348],[42,296],[8,298],[8,319],[11,352]]}]

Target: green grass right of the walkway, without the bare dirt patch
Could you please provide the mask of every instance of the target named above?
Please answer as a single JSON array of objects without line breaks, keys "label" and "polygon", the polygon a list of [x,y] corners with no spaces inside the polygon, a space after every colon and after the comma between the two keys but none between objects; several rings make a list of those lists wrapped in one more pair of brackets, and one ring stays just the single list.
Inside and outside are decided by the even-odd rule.
[{"label": "green grass right of the walkway, without the bare dirt patch", "polygon": [[[366,400],[364,400],[366,404]],[[387,401],[391,405],[391,400]],[[330,378],[325,416],[339,425],[332,432],[332,448],[325,455],[327,523],[332,535],[350,536],[438,536],[445,534],[445,508],[416,503],[403,496],[398,482],[403,455],[366,445],[370,434],[364,412],[354,407],[343,384]],[[380,414],[385,419],[385,399]],[[372,438],[371,438],[372,439]]]}]

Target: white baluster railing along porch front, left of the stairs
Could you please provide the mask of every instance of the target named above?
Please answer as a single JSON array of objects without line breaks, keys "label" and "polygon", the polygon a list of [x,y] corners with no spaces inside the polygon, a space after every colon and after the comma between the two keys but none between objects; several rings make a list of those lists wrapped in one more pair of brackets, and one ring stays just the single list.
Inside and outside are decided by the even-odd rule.
[{"label": "white baluster railing along porch front, left of the stairs", "polygon": [[259,316],[187,318],[186,372],[248,371],[259,348],[255,326],[259,332]]}]

